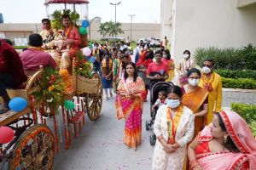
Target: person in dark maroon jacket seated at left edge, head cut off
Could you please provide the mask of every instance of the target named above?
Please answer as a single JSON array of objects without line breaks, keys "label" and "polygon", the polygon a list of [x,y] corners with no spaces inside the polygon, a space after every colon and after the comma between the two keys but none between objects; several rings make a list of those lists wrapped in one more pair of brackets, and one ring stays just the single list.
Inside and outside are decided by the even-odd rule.
[{"label": "person in dark maroon jacket seated at left edge, head cut off", "polygon": [[8,42],[0,39],[0,96],[3,98],[0,114],[9,111],[6,88],[18,88],[23,82],[26,82],[26,75],[19,54]]}]

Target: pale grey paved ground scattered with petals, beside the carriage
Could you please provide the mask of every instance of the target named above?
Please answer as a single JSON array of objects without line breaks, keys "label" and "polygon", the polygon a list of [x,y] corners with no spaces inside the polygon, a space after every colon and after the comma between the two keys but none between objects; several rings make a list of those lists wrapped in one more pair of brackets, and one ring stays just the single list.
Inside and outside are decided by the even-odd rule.
[{"label": "pale grey paved ground scattered with petals, beside the carriage", "polygon": [[122,143],[125,122],[116,119],[114,98],[108,101],[104,99],[102,116],[96,122],[90,122],[86,116],[82,133],[78,139],[72,139],[71,149],[61,149],[55,156],[54,169],[150,169],[154,153],[154,147],[149,144],[149,135],[152,131],[145,130],[145,120],[150,117],[149,107],[149,102],[144,103],[143,144],[134,151]]}]

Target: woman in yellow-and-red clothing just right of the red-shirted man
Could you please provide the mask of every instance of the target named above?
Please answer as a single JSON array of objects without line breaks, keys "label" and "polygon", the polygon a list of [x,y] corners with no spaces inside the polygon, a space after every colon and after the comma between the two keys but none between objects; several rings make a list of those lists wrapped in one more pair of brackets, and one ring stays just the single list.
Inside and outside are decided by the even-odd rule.
[{"label": "woman in yellow-and-red clothing just right of the red-shirted man", "polygon": [[163,50],[162,52],[162,62],[165,63],[168,67],[169,70],[169,78],[166,79],[166,82],[172,82],[173,77],[175,76],[174,74],[174,60],[171,59],[171,54],[169,49]]}]

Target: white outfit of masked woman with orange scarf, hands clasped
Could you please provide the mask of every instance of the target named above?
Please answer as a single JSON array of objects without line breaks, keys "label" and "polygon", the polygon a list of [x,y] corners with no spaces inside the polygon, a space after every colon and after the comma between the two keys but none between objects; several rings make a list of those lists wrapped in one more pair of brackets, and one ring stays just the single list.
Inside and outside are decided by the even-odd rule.
[{"label": "white outfit of masked woman with orange scarf, hands clasped", "polygon": [[[167,125],[167,107],[160,106],[154,121],[154,134],[157,137],[163,135],[168,141],[168,125]],[[172,113],[172,117],[176,113]],[[188,107],[183,106],[183,114],[177,125],[175,141],[180,147],[173,153],[166,153],[164,147],[157,139],[154,147],[152,170],[181,170],[183,169],[183,161],[186,156],[187,144],[193,139],[194,135],[194,118],[193,112]]]}]

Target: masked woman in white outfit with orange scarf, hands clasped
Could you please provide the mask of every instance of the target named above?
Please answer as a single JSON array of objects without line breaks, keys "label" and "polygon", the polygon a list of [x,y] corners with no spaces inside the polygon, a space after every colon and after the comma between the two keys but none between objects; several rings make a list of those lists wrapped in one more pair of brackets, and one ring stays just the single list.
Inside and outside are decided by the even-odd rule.
[{"label": "masked woman in white outfit with orange scarf, hands clasped", "polygon": [[160,106],[154,121],[157,141],[154,147],[152,170],[180,170],[186,156],[187,144],[194,135],[194,115],[182,105],[182,90],[167,89],[167,104]]}]

